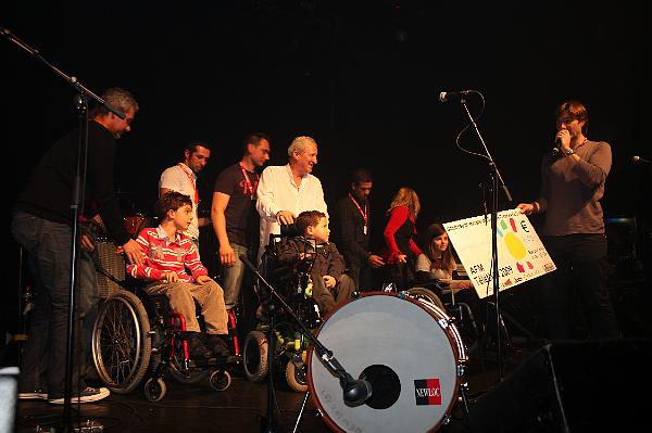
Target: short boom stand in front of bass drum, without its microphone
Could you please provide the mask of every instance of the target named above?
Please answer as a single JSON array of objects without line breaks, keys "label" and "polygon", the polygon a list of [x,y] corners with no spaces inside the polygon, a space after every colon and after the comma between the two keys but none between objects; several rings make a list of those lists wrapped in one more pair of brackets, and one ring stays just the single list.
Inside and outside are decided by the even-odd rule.
[{"label": "short boom stand in front of bass drum, without its microphone", "polygon": [[[342,386],[342,390],[344,391],[344,400],[347,400],[346,397],[350,397],[351,399],[356,399],[356,391],[358,389],[355,387],[356,381],[351,377],[351,374],[349,374],[344,368],[339,364],[339,361],[335,358],[335,356],[333,355],[333,351],[329,351],[328,348],[326,348],[326,346],[324,346],[322,344],[322,342],[319,340],[317,340],[316,336],[313,335],[312,331],[310,329],[308,329],[308,327],[305,324],[303,324],[303,322],[297,317],[297,315],[294,314],[294,311],[288,306],[288,304],[285,302],[285,300],[283,298],[281,295],[278,294],[278,292],[276,291],[276,289],[274,289],[272,286],[272,284],[269,284],[267,282],[267,280],[265,280],[265,278],[263,276],[261,276],[261,273],[258,271],[258,269],[255,268],[255,266],[253,266],[253,264],[249,260],[249,258],[247,257],[247,255],[241,254],[239,256],[240,260],[242,260],[242,263],[244,263],[244,265],[255,275],[255,277],[265,285],[265,288],[269,291],[271,294],[273,294],[274,296],[269,296],[268,303],[269,303],[269,330],[268,330],[268,338],[267,338],[267,365],[269,368],[269,372],[268,372],[268,378],[269,380],[267,381],[267,417],[263,417],[262,422],[261,422],[261,432],[262,433],[274,433],[277,430],[277,425],[274,422],[274,405],[273,405],[273,398],[274,398],[274,391],[273,391],[273,380],[272,380],[272,362],[274,361],[274,340],[275,340],[275,335],[274,335],[274,315],[275,315],[275,305],[274,305],[274,301],[273,297],[276,298],[276,301],[286,309],[286,311],[292,317],[292,319],[294,320],[294,322],[299,326],[299,330],[300,332],[308,339],[310,340],[310,342],[312,343],[314,351],[317,353],[317,355],[319,355],[319,359],[322,359],[323,364],[326,364],[326,366],[328,367],[328,369],[335,374],[337,375],[337,378],[339,379],[340,385]],[[365,396],[364,399],[359,399],[355,403],[349,403],[346,402],[349,406],[360,406],[362,405],[368,397],[371,397],[371,391],[368,391],[368,395]]]}]

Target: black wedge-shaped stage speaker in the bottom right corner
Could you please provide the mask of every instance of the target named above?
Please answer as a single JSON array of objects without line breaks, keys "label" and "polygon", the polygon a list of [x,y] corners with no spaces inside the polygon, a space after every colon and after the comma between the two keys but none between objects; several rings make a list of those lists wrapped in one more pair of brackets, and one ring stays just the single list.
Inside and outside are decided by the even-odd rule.
[{"label": "black wedge-shaped stage speaker in the bottom right corner", "polygon": [[649,425],[652,339],[543,346],[469,409],[471,431],[638,431]]}]

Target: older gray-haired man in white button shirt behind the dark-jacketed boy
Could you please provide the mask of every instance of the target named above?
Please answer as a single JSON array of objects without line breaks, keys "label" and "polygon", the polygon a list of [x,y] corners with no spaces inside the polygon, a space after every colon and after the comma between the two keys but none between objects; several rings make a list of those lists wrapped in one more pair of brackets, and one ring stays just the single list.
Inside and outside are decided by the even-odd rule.
[{"label": "older gray-haired man in white button shirt behind the dark-jacketed boy", "polygon": [[311,175],[317,164],[317,143],[311,137],[297,137],[288,148],[289,163],[263,170],[255,207],[261,215],[259,260],[280,226],[294,222],[303,211],[319,211],[328,216],[322,182]]}]

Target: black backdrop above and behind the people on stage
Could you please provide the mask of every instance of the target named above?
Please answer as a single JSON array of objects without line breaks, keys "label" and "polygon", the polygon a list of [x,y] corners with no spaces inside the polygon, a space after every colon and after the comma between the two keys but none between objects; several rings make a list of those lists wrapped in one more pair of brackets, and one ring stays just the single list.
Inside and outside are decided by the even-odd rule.
[{"label": "black backdrop above and behind the people on stage", "polygon": [[[514,196],[505,203],[501,195],[502,208],[536,198],[553,110],[574,98],[588,106],[589,138],[613,145],[606,214],[649,215],[650,170],[630,163],[652,156],[648,22],[639,7],[611,3],[26,0],[4,2],[0,25],[89,89],[135,93],[141,111],[118,142],[116,167],[134,211],[150,212],[161,170],[188,139],[214,144],[201,175],[209,203],[247,131],[271,135],[271,164],[287,161],[294,136],[310,135],[328,204],[347,191],[354,167],[375,174],[379,243],[384,211],[401,186],[422,199],[422,231],[482,212],[487,164],[455,147],[468,122],[460,104],[437,101],[450,90],[485,95],[478,127]],[[0,40],[0,64],[7,227],[25,177],[77,120],[74,92],[53,72],[8,40]],[[477,98],[468,103],[479,113]],[[461,143],[481,151],[471,129]],[[12,281],[16,267],[8,263],[2,272]]]}]

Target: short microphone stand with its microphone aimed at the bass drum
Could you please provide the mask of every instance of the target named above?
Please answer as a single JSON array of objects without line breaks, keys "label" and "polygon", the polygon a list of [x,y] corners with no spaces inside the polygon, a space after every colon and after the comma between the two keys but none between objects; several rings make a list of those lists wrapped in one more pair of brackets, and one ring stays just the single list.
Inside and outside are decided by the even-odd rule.
[{"label": "short microphone stand with its microphone aimed at the bass drum", "polygon": [[[253,266],[253,264],[249,260],[247,255],[241,254],[239,256],[239,258],[255,275],[255,277],[265,285],[265,288],[269,292],[269,300],[268,300],[269,305],[267,306],[267,311],[268,311],[268,316],[269,316],[268,317],[269,326],[268,326],[268,331],[267,331],[268,332],[268,335],[267,335],[267,344],[268,344],[267,362],[268,364],[267,365],[269,368],[269,371],[267,373],[267,379],[268,379],[267,380],[267,416],[261,417],[261,431],[265,432],[265,433],[278,431],[277,422],[274,419],[275,394],[274,394],[274,382],[273,382],[273,374],[272,374],[273,362],[274,362],[274,353],[275,353],[274,344],[275,344],[275,340],[276,340],[274,338],[274,329],[275,329],[275,318],[274,317],[276,315],[276,305],[275,305],[276,303],[278,303],[280,306],[283,306],[285,311],[288,313],[290,315],[290,317],[292,317],[292,319],[294,320],[296,324],[298,324],[300,332],[308,340],[310,340],[310,342],[312,343],[313,349],[317,352],[323,365],[327,366],[328,370],[330,371],[331,377],[335,375],[337,379],[339,379],[339,384],[340,384],[340,387],[343,393],[342,396],[343,396],[344,404],[348,407],[358,407],[358,406],[363,405],[372,396],[371,383],[364,379],[353,379],[353,377],[351,377],[351,374],[349,374],[347,372],[347,370],[344,370],[344,368],[341,366],[341,364],[337,360],[337,358],[333,354],[333,351],[329,351],[328,348],[326,348],[326,346],[324,346],[322,344],[322,342],[319,342],[319,340],[313,335],[312,331],[310,329],[308,329],[308,327],[297,317],[294,311],[284,301],[283,296],[280,296],[278,294],[276,289],[274,289],[272,286],[272,284],[269,284],[267,282],[267,280],[265,280],[265,278],[263,278],[263,276],[260,275],[260,272],[258,271],[255,266]],[[304,398],[308,398],[308,395]],[[300,412],[300,415],[301,413],[302,412]],[[297,422],[297,424],[298,424],[298,422]]]}]

